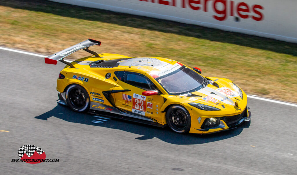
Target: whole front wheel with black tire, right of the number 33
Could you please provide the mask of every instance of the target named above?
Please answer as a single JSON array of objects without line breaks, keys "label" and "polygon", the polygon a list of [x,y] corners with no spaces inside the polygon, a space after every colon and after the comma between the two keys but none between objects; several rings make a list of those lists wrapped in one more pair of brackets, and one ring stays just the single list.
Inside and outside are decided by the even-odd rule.
[{"label": "whole front wheel with black tire, right of the number 33", "polygon": [[188,133],[191,127],[191,116],[184,107],[173,105],[166,112],[166,122],[176,133]]}]

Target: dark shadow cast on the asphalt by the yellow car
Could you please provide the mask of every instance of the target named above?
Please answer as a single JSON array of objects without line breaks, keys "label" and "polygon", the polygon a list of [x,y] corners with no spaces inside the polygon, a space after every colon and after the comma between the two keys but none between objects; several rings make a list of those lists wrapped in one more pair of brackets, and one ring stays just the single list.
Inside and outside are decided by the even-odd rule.
[{"label": "dark shadow cast on the asphalt by the yellow car", "polygon": [[178,134],[170,130],[170,128],[159,128],[155,126],[150,126],[146,124],[140,124],[136,122],[129,122],[120,119],[110,119],[101,124],[93,123],[92,121],[96,120],[97,117],[94,117],[91,114],[86,113],[77,113],[72,111],[70,108],[62,105],[57,105],[52,110],[43,113],[39,116],[36,116],[36,119],[47,120],[50,117],[56,117],[67,122],[88,124],[98,127],[106,127],[112,129],[123,130],[130,133],[135,133],[140,136],[138,140],[147,140],[151,138],[159,138],[162,141],[179,144],[179,145],[189,145],[189,144],[204,144],[214,141],[219,141],[227,138],[234,137],[239,135],[244,128],[249,127],[249,122],[244,123],[238,126],[235,129],[227,130],[219,133],[208,134],[208,135],[198,135],[198,134]]}]

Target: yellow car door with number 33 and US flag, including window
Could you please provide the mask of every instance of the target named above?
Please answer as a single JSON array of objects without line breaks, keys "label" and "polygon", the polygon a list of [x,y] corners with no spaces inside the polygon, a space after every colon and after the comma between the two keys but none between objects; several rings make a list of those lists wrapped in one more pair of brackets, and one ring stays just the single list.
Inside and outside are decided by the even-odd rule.
[{"label": "yellow car door with number 33 and US flag, including window", "polygon": [[142,95],[142,92],[147,90],[160,92],[157,86],[145,75],[137,72],[116,71],[115,74],[120,81],[117,84],[118,87],[113,90],[130,90],[114,93],[115,105],[122,110],[164,124],[163,113],[159,111],[164,103],[163,95]]}]

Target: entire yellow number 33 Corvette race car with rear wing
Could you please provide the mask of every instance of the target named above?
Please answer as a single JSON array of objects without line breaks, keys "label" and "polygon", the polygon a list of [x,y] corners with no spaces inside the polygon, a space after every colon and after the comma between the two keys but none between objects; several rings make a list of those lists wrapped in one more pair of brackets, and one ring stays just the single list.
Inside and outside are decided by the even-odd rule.
[{"label": "entire yellow number 33 Corvette race car with rear wing", "polygon": [[[59,103],[77,112],[116,117],[177,133],[208,134],[249,121],[247,95],[225,78],[204,77],[172,59],[128,57],[89,50],[88,39],[45,58],[67,64],[57,79]],[[83,49],[76,61],[64,57]]]}]

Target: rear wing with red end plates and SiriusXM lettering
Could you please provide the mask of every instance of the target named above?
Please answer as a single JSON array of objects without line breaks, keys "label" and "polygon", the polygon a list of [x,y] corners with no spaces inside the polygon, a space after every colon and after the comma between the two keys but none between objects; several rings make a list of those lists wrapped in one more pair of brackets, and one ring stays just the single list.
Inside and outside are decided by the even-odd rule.
[{"label": "rear wing with red end plates and SiriusXM lettering", "polygon": [[92,45],[101,45],[101,41],[88,39],[86,41],[83,41],[76,45],[73,45],[67,49],[64,49],[63,51],[60,51],[53,55],[45,57],[44,61],[46,64],[57,64],[58,61],[61,61],[65,64],[69,65],[70,67],[75,68],[70,62],[65,61],[64,58],[76,51],[81,50],[81,49],[95,55],[96,57],[100,57],[96,52],[89,50],[89,47]]}]

